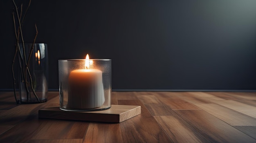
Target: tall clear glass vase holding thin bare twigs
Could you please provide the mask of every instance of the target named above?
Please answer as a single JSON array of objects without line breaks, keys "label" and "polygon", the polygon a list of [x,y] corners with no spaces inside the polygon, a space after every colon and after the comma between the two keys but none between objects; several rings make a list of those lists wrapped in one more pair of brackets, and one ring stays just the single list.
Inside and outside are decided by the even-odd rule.
[{"label": "tall clear glass vase holding thin bare twigs", "polygon": [[45,43],[19,44],[20,103],[42,103],[48,93],[48,53]]}]

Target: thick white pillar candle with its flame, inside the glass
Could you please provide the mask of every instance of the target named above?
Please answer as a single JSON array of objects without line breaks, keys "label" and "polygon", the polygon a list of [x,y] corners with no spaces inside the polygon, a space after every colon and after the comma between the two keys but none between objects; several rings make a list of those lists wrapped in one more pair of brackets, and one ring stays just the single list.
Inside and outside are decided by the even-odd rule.
[{"label": "thick white pillar candle with its flame, inside the glass", "polygon": [[91,109],[103,105],[104,89],[102,83],[102,71],[90,69],[89,56],[85,59],[85,69],[70,72],[68,84],[67,108]]}]

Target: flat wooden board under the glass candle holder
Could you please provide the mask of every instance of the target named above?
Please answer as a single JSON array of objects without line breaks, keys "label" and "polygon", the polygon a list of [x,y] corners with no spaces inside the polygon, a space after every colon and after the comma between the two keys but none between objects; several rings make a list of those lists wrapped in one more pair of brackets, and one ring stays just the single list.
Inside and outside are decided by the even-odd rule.
[{"label": "flat wooden board under the glass candle holder", "polygon": [[89,112],[63,111],[58,106],[38,110],[39,118],[111,123],[121,123],[138,114],[141,114],[141,106],[130,105],[111,105],[108,110]]}]

